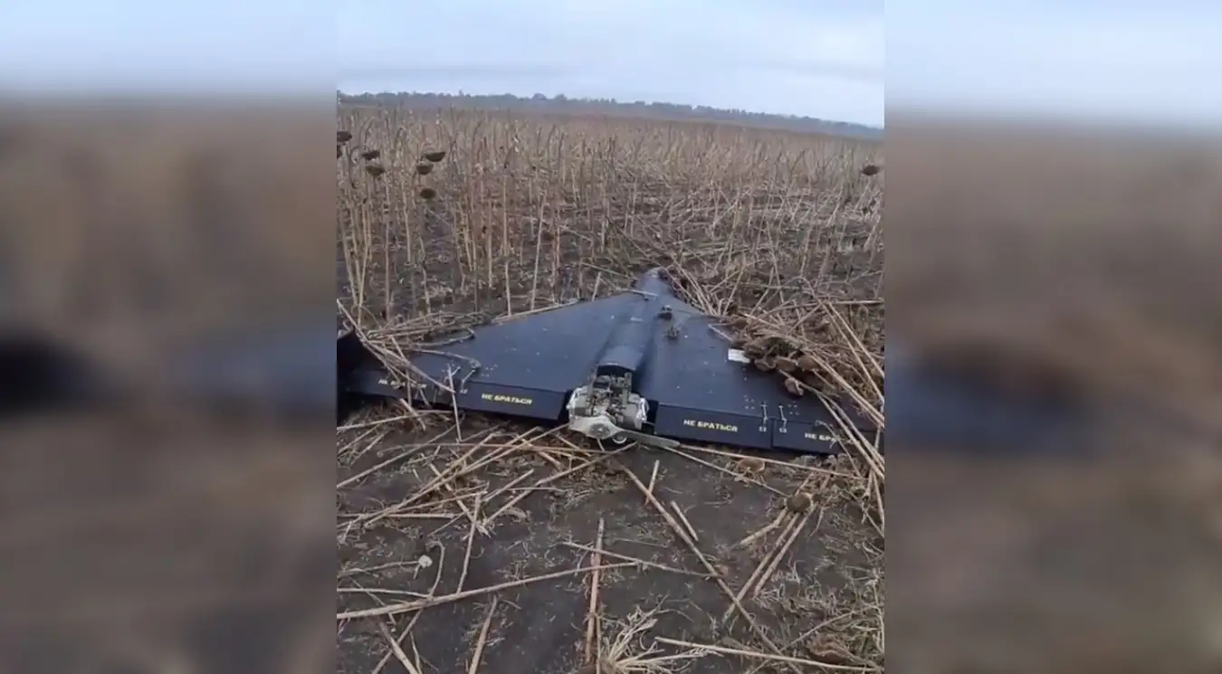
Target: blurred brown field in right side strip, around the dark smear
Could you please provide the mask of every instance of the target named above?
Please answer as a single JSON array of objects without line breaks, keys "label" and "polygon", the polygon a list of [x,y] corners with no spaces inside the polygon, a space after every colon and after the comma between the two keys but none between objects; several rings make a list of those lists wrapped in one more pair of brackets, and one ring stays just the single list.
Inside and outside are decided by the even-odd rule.
[{"label": "blurred brown field in right side strip, around the dark smear", "polygon": [[888,339],[1112,410],[1070,455],[896,447],[892,665],[1217,670],[1217,143],[915,115],[887,131]]}]

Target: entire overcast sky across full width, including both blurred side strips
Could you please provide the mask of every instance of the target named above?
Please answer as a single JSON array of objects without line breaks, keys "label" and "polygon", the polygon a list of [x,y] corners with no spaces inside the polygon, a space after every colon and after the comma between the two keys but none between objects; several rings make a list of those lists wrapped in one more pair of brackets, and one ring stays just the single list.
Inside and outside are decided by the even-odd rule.
[{"label": "entire overcast sky across full width, including both blurred side strips", "polygon": [[10,90],[563,93],[879,125],[886,89],[1218,125],[1217,82],[1211,0],[0,0]]}]

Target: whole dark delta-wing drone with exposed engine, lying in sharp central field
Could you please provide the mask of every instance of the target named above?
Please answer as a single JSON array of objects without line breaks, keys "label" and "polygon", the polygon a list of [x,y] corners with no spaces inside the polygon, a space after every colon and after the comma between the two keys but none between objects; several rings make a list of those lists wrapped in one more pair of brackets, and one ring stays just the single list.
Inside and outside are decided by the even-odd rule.
[{"label": "whole dark delta-wing drone with exposed engine, lying in sharp central field", "polygon": [[[748,364],[717,320],[681,300],[662,269],[632,291],[473,328],[409,355],[395,381],[349,332],[337,348],[340,420],[376,398],[563,422],[616,443],[676,441],[830,454],[835,418]],[[866,437],[874,429],[844,405]],[[648,430],[646,430],[648,429]]]}]

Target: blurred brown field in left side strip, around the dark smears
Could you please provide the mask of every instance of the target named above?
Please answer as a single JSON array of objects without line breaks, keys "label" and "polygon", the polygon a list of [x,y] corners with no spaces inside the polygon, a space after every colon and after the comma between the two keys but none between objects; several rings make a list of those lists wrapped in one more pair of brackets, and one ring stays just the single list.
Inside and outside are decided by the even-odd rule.
[{"label": "blurred brown field in left side strip, around the dark smears", "polygon": [[[299,101],[5,100],[0,328],[154,394],[183,344],[327,320],[332,120]],[[326,420],[144,402],[0,424],[0,669],[329,670],[304,619],[334,596]]]}]

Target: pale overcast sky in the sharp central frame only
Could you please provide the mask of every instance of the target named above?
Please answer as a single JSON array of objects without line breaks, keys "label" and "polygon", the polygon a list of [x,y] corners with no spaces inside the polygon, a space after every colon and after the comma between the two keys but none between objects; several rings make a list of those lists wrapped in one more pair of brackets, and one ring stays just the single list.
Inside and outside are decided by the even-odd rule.
[{"label": "pale overcast sky in the sharp central frame only", "polygon": [[881,125],[881,0],[352,0],[345,90],[672,101]]}]

